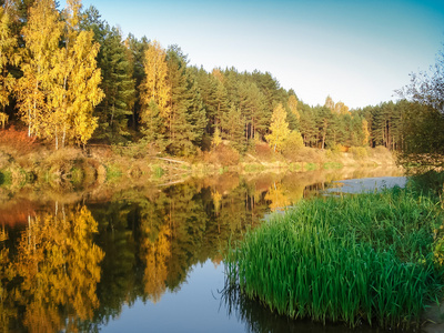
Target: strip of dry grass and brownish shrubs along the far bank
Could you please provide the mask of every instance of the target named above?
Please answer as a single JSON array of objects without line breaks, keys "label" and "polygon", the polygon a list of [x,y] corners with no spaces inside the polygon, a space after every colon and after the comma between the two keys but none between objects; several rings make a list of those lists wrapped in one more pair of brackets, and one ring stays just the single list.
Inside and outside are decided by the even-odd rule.
[{"label": "strip of dry grass and brownish shrubs along the far bank", "polygon": [[256,142],[240,154],[222,142],[190,158],[150,153],[143,143],[129,145],[89,144],[85,149],[52,150],[13,127],[0,133],[0,185],[20,188],[27,183],[75,189],[130,180],[135,183],[173,184],[184,178],[225,172],[303,172],[344,167],[395,165],[383,148],[351,148],[349,152],[299,148],[291,158]]}]

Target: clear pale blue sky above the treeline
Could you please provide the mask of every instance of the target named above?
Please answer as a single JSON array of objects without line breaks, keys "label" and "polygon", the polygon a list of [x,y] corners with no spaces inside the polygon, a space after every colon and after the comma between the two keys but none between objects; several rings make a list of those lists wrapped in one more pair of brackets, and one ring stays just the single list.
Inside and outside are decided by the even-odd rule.
[{"label": "clear pale blue sky above the treeline", "polygon": [[[444,49],[443,0],[83,0],[125,37],[178,44],[190,64],[270,72],[307,104],[396,100]],[[63,8],[64,1],[60,1]]]}]

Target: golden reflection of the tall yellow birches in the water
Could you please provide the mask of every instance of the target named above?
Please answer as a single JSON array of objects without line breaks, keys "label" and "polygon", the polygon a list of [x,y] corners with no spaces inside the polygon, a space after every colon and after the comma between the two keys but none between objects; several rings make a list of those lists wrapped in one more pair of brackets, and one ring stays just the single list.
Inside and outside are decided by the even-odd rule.
[{"label": "golden reflection of the tall yellow birches in the water", "polygon": [[104,255],[92,242],[97,228],[91,212],[80,205],[29,216],[18,253],[2,278],[21,281],[4,299],[14,304],[12,309],[26,309],[23,323],[30,332],[75,331],[67,323],[92,319]]}]

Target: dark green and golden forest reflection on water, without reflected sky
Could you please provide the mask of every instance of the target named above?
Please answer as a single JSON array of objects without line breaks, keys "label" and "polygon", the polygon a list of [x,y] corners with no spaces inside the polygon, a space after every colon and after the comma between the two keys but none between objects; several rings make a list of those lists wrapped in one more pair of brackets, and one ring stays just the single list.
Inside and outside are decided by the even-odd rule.
[{"label": "dark green and golden forest reflection on water, without reflected sky", "polygon": [[[343,178],[226,173],[174,186],[130,188],[104,201],[37,203],[41,208],[26,225],[9,221],[0,232],[0,330],[99,331],[124,305],[178,292],[194,265],[220,263],[228,242],[268,212]],[[266,316],[242,295],[228,293],[224,300],[251,332],[278,332],[280,323],[287,330],[286,319]]]}]

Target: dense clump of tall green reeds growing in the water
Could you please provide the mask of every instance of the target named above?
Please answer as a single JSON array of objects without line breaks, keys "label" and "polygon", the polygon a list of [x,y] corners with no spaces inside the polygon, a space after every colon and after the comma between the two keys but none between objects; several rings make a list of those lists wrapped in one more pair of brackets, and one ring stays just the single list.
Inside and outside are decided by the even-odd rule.
[{"label": "dense clump of tall green reeds growing in the water", "polygon": [[291,317],[418,324],[442,290],[433,262],[442,221],[430,199],[400,189],[305,201],[229,252],[229,281]]}]

